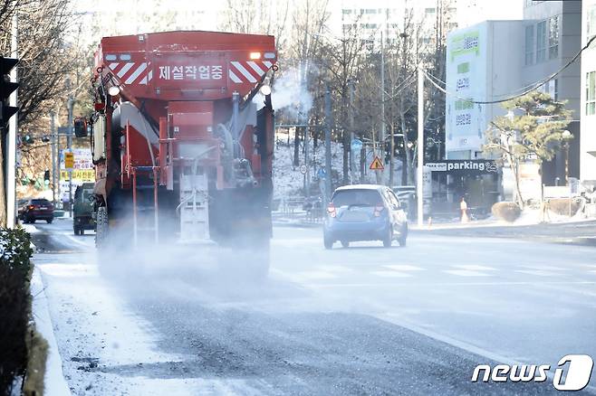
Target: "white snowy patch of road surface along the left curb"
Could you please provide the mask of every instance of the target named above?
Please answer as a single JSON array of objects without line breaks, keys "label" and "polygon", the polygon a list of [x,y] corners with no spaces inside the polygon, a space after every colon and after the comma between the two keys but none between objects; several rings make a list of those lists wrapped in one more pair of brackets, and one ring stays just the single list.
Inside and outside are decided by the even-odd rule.
[{"label": "white snowy patch of road surface along the left curb", "polygon": [[72,392],[158,395],[167,389],[168,394],[193,393],[194,384],[188,380],[158,381],[142,374],[143,365],[180,362],[185,356],[160,353],[151,326],[125,308],[90,264],[92,258],[76,257],[41,254],[34,259],[45,285],[64,378]]}]

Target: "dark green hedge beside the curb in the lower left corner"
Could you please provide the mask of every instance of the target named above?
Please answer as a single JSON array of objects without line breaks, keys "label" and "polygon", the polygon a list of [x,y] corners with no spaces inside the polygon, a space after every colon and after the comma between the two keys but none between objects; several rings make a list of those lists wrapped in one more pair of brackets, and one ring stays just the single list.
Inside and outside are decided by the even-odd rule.
[{"label": "dark green hedge beside the curb in the lower left corner", "polygon": [[25,337],[31,317],[33,250],[21,228],[0,229],[0,394],[10,394],[14,377],[27,365]]}]

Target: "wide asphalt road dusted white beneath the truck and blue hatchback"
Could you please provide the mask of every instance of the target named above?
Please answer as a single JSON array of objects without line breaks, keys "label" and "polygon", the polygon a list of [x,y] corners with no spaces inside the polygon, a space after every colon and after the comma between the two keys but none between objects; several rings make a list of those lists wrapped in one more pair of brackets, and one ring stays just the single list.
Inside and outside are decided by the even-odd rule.
[{"label": "wide asphalt road dusted white beneath the truck and blue hatchback", "polygon": [[[200,250],[98,260],[70,227],[39,224],[34,241],[75,394],[149,394],[141,379],[156,394],[551,394],[552,379],[470,378],[482,363],[596,357],[590,247],[418,232],[407,248],[323,250],[319,230],[277,228],[263,280]],[[127,349],[114,320],[150,340]]]}]

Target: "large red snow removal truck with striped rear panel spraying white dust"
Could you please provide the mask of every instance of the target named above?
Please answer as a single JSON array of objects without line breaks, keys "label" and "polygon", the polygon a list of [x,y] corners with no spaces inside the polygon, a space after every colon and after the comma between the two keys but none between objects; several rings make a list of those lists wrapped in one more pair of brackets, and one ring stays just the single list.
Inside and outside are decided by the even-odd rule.
[{"label": "large red snow removal truck with striped rear panel spraying white dust", "polygon": [[[90,118],[98,247],[212,240],[269,250],[274,37],[105,37]],[[267,255],[268,256],[268,255]]]}]

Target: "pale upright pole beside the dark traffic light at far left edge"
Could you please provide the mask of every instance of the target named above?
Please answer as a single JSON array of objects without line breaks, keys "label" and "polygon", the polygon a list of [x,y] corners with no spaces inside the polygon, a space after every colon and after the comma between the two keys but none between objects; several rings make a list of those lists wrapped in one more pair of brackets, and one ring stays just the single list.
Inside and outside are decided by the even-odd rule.
[{"label": "pale upright pole beside the dark traffic light at far left edge", "polygon": [[[16,35],[18,34],[18,19],[16,12],[13,15],[13,26],[11,32],[11,56],[18,59],[18,42]],[[17,68],[14,67],[10,71],[10,80],[16,82]],[[10,95],[10,106],[16,107],[18,90]],[[18,129],[18,113],[8,120],[8,138],[6,139],[6,146],[8,146],[8,157],[6,158],[6,228],[14,228],[14,221],[16,219],[16,133]]]}]

